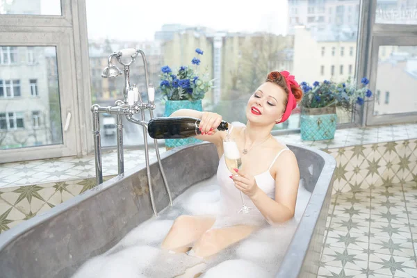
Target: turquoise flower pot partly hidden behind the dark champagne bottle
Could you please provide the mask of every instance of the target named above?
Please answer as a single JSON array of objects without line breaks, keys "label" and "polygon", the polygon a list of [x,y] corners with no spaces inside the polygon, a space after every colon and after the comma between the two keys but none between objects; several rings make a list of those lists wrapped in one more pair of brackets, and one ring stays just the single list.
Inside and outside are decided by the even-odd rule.
[{"label": "turquoise flower pot partly hidden behind the dark champagne bottle", "polygon": [[[175,111],[179,109],[193,109],[197,111],[203,111],[202,100],[198,99],[196,101],[189,100],[167,100],[165,102],[165,113],[164,116],[168,117]],[[202,142],[193,137],[183,138],[183,139],[165,139],[165,147],[167,149],[172,149],[174,147],[179,147],[183,145],[196,144]]]}]

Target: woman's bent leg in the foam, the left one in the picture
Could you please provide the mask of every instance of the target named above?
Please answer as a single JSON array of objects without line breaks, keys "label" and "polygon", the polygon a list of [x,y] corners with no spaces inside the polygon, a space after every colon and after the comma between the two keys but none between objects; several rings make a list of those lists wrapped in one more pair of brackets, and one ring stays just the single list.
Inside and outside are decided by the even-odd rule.
[{"label": "woman's bent leg in the foam, the left one in the picture", "polygon": [[176,253],[185,253],[190,244],[198,240],[211,228],[215,218],[209,216],[181,215],[174,221],[170,231],[162,242],[162,248]]}]

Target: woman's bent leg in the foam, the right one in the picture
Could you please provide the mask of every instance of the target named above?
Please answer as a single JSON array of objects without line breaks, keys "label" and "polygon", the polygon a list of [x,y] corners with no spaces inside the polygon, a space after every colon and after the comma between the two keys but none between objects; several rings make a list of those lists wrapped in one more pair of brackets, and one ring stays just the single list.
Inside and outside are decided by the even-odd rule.
[{"label": "woman's bent leg in the foam, the right one in the picture", "polygon": [[247,238],[256,228],[254,226],[238,225],[223,229],[209,229],[195,243],[192,252],[195,256],[202,258],[211,256],[229,245]]}]

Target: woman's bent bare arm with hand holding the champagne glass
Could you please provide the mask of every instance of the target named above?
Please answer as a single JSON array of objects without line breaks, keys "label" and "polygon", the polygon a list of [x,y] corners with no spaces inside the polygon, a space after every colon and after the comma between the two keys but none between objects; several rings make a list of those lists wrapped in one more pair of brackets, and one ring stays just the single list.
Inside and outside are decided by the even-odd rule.
[{"label": "woman's bent bare arm with hand holding the champagne glass", "polygon": [[[253,177],[238,173],[240,177],[233,178],[236,187],[252,199],[262,215],[272,223],[285,222],[293,218],[300,183],[300,170],[293,152],[285,151],[275,163],[275,200],[256,185]],[[252,179],[252,181],[251,181]]]}]

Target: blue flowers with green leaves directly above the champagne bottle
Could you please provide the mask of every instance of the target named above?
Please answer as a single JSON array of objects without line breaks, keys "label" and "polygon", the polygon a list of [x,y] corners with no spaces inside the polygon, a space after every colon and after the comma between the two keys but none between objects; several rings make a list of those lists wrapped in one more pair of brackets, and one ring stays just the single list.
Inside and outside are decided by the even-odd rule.
[{"label": "blue flowers with green leaves directly above the champagne bottle", "polygon": [[[204,51],[197,48],[195,52],[198,55],[203,55]],[[203,99],[208,90],[213,88],[213,81],[208,79],[208,68],[204,74],[199,74],[198,66],[201,63],[199,58],[194,57],[191,63],[194,66],[181,66],[174,74],[171,68],[167,65],[162,67],[159,75],[161,83],[159,89],[163,97],[167,100],[189,100],[196,101]]]}]

